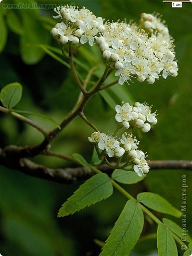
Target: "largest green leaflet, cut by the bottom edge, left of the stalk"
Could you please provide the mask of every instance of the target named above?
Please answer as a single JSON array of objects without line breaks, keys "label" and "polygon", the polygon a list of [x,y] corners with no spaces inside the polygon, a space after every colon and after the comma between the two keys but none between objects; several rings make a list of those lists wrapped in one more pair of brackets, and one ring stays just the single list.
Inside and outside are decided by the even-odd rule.
[{"label": "largest green leaflet, cut by the bottom edge, left of the stalk", "polygon": [[129,200],[119,215],[100,256],[130,255],[143,228],[143,213],[135,199]]}]

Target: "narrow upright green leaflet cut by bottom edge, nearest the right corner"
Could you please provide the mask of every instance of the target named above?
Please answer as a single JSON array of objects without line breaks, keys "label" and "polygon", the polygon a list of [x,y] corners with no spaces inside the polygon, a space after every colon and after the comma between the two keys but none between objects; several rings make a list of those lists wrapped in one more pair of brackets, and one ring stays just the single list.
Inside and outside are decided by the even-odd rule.
[{"label": "narrow upright green leaflet cut by bottom edge, nearest the right corner", "polygon": [[174,238],[163,224],[159,224],[157,228],[157,249],[159,256],[178,256]]}]

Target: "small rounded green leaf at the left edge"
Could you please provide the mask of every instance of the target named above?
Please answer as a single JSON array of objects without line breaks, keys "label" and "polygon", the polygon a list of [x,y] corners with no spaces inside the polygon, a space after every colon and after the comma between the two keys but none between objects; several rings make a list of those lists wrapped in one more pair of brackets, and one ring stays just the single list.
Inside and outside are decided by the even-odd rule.
[{"label": "small rounded green leaf at the left edge", "polygon": [[0,94],[0,99],[4,107],[12,108],[20,101],[22,86],[19,83],[7,84]]}]

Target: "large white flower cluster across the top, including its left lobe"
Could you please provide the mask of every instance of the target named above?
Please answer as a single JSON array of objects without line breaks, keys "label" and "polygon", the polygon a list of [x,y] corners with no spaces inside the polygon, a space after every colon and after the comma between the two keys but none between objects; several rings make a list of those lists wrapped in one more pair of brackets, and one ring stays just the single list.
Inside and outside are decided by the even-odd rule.
[{"label": "large white flower cluster across the top, including its left lobe", "polygon": [[125,22],[103,23],[85,7],[60,6],[54,11],[57,23],[51,34],[61,45],[84,44],[99,46],[106,65],[116,70],[118,83],[136,77],[138,81],[153,84],[159,76],[177,76],[173,38],[164,22],[157,15],[142,13],[139,26]]}]

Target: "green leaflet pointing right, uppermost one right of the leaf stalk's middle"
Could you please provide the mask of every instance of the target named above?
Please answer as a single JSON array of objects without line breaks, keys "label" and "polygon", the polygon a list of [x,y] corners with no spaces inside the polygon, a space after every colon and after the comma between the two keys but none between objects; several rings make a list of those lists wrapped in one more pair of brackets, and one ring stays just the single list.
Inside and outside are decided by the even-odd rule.
[{"label": "green leaflet pointing right, uppermost one right of the leaf stalk's middle", "polygon": [[157,194],[151,192],[143,192],[138,194],[137,199],[140,203],[157,212],[167,213],[178,218],[182,215],[182,213],[173,207],[169,202],[167,202],[165,198]]}]

